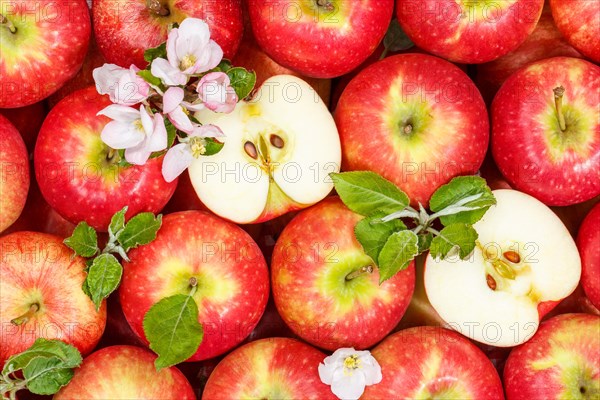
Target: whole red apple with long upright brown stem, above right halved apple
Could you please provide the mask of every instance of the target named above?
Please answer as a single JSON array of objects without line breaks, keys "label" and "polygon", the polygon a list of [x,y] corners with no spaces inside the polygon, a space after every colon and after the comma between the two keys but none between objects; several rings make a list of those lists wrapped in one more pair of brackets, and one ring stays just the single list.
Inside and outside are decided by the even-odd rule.
[{"label": "whole red apple with long upright brown stem, above right halved apple", "polygon": [[[554,106],[561,85],[565,132]],[[492,154],[513,188],[550,206],[600,194],[599,96],[600,68],[569,57],[529,64],[504,83],[492,103]]]}]

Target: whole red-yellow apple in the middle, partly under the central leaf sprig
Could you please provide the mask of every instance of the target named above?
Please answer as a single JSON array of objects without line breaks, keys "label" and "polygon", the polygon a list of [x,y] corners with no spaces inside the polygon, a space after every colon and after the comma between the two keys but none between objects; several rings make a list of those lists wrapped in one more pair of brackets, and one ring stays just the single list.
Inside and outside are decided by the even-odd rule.
[{"label": "whole red-yellow apple in the middle, partly under the central leaf sprig", "polygon": [[300,212],[277,240],[273,298],[292,331],[327,350],[369,348],[400,321],[415,286],[414,263],[379,286],[379,272],[345,277],[373,261],[354,236],[362,217],[337,197]]}]

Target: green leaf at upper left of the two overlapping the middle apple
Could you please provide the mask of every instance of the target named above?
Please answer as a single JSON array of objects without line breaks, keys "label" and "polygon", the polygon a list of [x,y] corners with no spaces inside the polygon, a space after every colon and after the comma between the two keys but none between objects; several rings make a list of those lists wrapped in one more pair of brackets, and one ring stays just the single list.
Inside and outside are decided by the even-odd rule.
[{"label": "green leaf at upper left of the two overlapping the middle apple", "polygon": [[354,227],[354,235],[360,242],[365,253],[377,264],[379,253],[394,232],[406,229],[406,225],[399,219],[382,222],[385,213],[375,213],[360,220]]}]

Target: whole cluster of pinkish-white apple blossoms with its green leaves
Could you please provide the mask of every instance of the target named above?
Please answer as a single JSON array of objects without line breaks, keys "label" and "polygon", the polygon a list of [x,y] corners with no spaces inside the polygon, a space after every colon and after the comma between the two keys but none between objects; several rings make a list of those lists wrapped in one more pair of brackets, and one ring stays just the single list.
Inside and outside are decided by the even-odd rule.
[{"label": "whole cluster of pinkish-white apple blossoms with its green leaves", "polygon": [[93,71],[98,93],[114,103],[98,113],[112,119],[101,138],[119,151],[122,165],[144,165],[164,154],[162,173],[171,182],[194,158],[223,147],[221,129],[202,125],[193,113],[230,113],[252,92],[256,74],[223,59],[208,25],[197,18],[173,25],[167,41],[146,50],[144,59],[144,70],[104,64]]}]

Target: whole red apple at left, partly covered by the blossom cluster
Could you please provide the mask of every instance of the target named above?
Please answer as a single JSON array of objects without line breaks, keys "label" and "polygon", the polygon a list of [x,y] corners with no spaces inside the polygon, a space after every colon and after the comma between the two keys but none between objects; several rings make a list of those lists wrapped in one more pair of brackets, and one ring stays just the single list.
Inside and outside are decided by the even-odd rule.
[{"label": "whole red apple at left, partly covered by the blossom cluster", "polygon": [[96,113],[110,104],[93,86],[65,97],[44,121],[34,154],[48,204],[67,220],[86,221],[104,232],[124,206],[126,218],[160,212],[177,187],[177,180],[167,183],[162,177],[162,157],[126,168],[107,161],[100,133],[110,119]]}]

